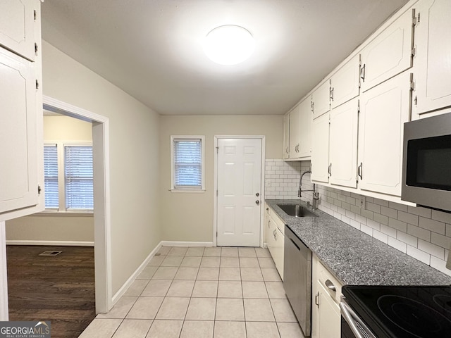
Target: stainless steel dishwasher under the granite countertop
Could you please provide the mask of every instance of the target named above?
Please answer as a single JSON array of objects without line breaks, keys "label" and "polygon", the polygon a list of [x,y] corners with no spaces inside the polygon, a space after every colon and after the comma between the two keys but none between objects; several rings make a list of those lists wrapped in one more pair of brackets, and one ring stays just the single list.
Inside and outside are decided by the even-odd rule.
[{"label": "stainless steel dishwasher under the granite countertop", "polygon": [[283,288],[306,337],[311,332],[311,250],[285,225]]}]

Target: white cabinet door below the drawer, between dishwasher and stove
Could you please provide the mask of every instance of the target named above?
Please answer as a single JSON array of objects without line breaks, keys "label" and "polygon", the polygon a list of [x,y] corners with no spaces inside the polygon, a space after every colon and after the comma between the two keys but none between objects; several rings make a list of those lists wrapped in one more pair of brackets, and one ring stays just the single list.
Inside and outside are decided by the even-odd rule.
[{"label": "white cabinet door below the drawer, between dishwasher and stove", "polygon": [[333,298],[324,289],[323,284],[316,280],[313,284],[313,304],[311,311],[312,338],[340,338],[341,313]]}]

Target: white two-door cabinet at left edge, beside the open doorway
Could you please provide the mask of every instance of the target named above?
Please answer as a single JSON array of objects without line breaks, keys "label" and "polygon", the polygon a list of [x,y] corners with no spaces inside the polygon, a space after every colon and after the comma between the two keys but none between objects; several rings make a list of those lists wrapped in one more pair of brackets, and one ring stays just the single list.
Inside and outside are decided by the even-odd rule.
[{"label": "white two-door cabinet at left edge, beside the open doorway", "polygon": [[39,0],[0,4],[0,221],[44,208],[39,9]]}]

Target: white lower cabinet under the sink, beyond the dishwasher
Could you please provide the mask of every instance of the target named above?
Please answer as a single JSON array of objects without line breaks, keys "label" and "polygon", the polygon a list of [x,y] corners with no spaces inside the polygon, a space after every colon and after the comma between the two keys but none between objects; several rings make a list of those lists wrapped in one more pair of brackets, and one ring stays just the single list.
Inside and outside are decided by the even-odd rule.
[{"label": "white lower cabinet under the sink, beyond the dishwasher", "polygon": [[273,258],[276,269],[283,280],[283,250],[285,242],[285,223],[266,204],[265,206],[265,241]]}]

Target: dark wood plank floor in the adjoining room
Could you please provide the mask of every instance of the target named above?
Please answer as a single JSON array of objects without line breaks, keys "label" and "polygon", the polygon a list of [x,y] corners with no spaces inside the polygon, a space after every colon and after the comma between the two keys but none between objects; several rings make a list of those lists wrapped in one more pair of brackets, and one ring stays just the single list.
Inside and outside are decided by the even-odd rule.
[{"label": "dark wood plank floor in the adjoining room", "polygon": [[13,245],[6,257],[9,320],[50,320],[52,338],[71,338],[94,319],[93,247]]}]

